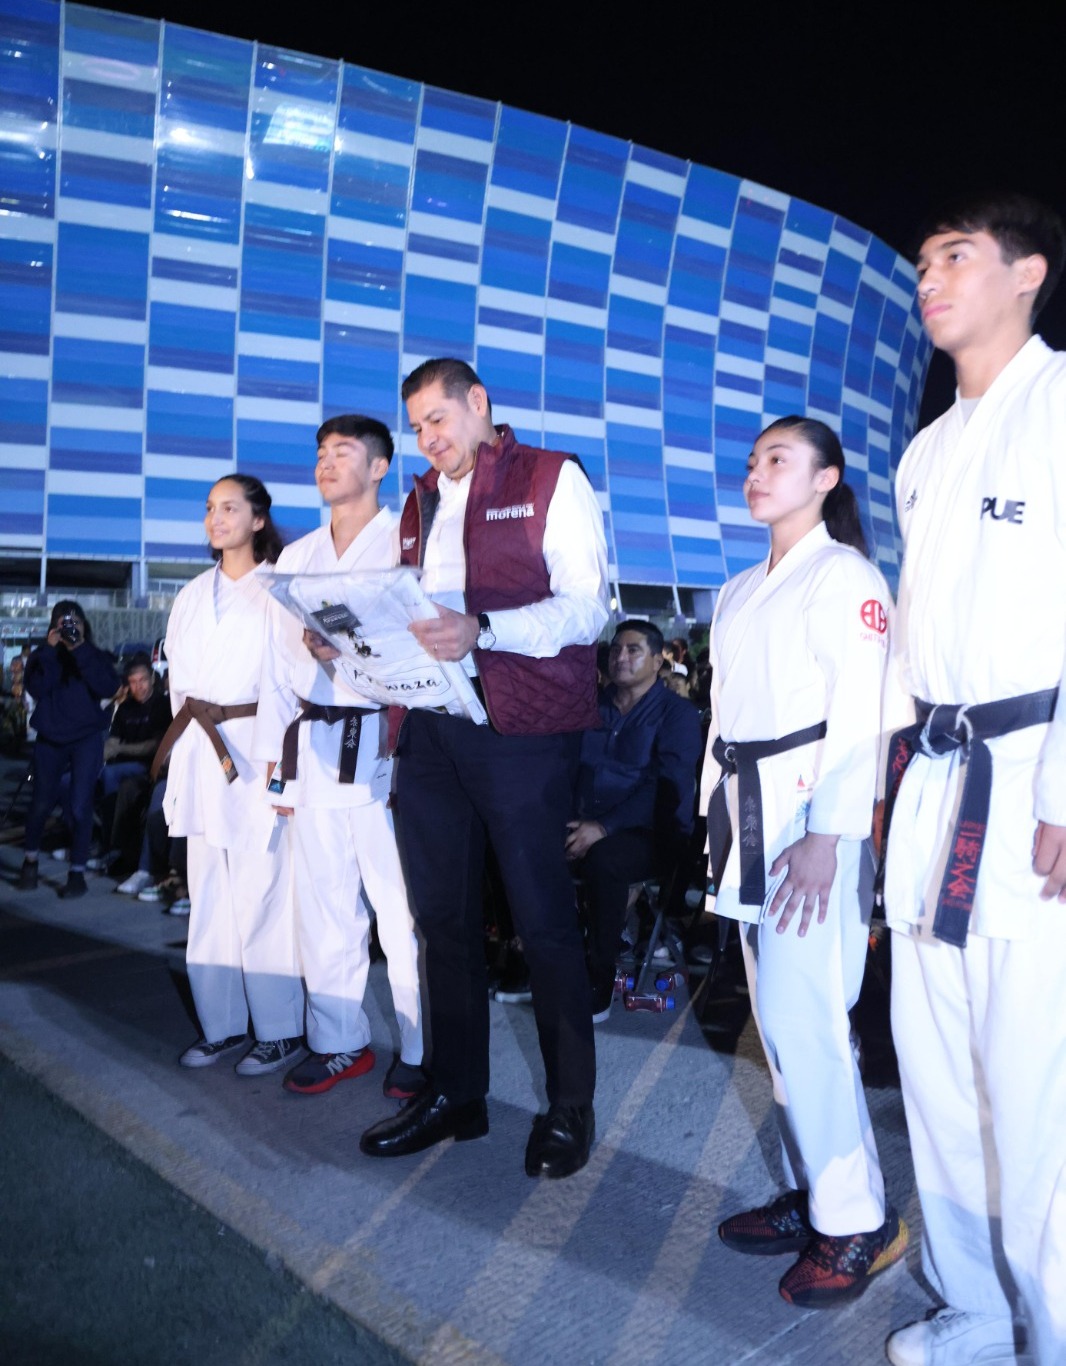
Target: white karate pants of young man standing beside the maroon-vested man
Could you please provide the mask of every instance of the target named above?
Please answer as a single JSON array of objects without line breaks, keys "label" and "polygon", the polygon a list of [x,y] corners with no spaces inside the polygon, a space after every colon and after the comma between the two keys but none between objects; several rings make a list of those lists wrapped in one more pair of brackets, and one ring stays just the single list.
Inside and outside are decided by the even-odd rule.
[{"label": "white karate pants of young man standing beside the maroon-vested man", "polygon": [[370,1022],[362,1008],[370,968],[369,902],[388,960],[400,1057],[421,1063],[418,941],[392,813],[384,802],[297,807],[292,835],[308,1046],[316,1053],[353,1053],[370,1042]]}]

